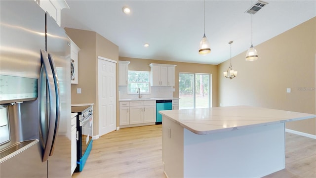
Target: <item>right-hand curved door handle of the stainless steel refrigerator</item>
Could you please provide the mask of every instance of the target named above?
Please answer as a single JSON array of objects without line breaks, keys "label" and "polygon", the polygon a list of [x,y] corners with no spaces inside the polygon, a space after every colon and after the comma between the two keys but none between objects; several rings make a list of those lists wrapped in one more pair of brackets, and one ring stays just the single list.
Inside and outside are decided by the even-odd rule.
[{"label": "right-hand curved door handle of the stainless steel refrigerator", "polygon": [[50,63],[51,70],[53,72],[53,79],[54,79],[54,88],[55,88],[55,93],[52,93],[53,95],[55,94],[55,99],[56,99],[56,115],[55,115],[55,127],[54,127],[54,134],[53,134],[53,142],[51,145],[51,150],[49,156],[53,155],[54,152],[54,145],[55,145],[55,139],[58,134],[58,126],[59,126],[59,117],[60,117],[60,95],[59,95],[59,82],[58,82],[58,76],[57,76],[57,69],[56,65],[54,62],[54,58],[51,54],[48,53],[48,60]]}]

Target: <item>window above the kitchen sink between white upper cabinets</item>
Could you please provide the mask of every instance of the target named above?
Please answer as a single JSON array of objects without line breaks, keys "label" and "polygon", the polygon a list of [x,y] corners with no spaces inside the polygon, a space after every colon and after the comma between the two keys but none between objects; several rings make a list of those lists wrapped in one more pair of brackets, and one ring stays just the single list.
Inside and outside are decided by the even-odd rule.
[{"label": "window above the kitchen sink between white upper cabinets", "polygon": [[141,93],[150,93],[150,72],[148,71],[128,71],[128,93],[137,93],[140,88]]}]

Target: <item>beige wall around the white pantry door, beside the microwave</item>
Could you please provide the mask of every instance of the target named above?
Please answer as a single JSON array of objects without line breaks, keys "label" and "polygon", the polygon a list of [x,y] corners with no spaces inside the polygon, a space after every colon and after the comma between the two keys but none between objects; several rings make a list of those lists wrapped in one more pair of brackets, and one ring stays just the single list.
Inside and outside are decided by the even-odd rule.
[{"label": "beige wall around the white pantry door, beside the microwave", "polygon": [[[65,28],[67,35],[80,48],[78,61],[78,85],[71,86],[72,104],[94,103],[93,135],[99,133],[98,113],[98,56],[118,60],[118,46],[96,32]],[[77,94],[81,88],[81,94]]]}]

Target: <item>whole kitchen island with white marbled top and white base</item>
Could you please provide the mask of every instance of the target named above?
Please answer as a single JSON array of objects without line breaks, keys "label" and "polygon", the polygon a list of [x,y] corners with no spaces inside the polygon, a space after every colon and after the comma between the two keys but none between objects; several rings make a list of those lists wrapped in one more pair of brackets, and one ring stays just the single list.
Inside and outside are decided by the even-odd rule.
[{"label": "whole kitchen island with white marbled top and white base", "polygon": [[285,168],[285,123],[316,115],[231,106],[162,114],[168,178],[254,178]]}]

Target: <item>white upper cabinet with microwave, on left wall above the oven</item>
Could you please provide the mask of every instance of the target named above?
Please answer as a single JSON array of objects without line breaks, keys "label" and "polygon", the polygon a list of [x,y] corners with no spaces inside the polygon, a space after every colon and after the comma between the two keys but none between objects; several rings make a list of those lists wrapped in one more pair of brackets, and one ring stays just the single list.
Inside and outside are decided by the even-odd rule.
[{"label": "white upper cabinet with microwave, on left wall above the oven", "polygon": [[71,84],[79,84],[78,80],[78,52],[80,48],[70,39],[70,73],[71,73]]}]

